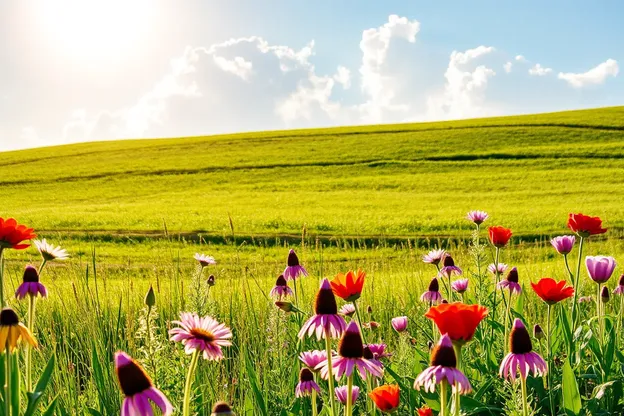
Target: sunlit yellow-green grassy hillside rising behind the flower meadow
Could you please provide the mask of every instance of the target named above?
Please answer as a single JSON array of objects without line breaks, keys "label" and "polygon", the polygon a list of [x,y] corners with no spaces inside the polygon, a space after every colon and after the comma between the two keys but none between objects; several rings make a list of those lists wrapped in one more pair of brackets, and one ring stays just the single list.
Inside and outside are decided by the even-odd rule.
[{"label": "sunlit yellow-green grassy hillside rising behind the flower meadow", "polygon": [[[624,227],[624,107],[443,123],[85,143],[0,153],[0,216],[38,230],[517,234],[568,212]],[[124,231],[125,232],[125,231]]]}]

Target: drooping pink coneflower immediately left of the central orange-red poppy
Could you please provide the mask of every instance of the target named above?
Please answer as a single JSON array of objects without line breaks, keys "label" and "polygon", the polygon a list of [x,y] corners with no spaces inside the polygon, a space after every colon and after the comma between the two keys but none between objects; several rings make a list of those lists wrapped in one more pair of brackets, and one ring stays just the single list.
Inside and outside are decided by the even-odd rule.
[{"label": "drooping pink coneflower immediately left of the central orange-red poppy", "polygon": [[331,338],[338,338],[342,335],[346,323],[342,316],[338,315],[336,297],[327,279],[323,279],[321,287],[316,294],[314,312],[315,315],[301,327],[299,338],[303,338],[306,334],[311,337],[314,333],[316,333],[316,339],[318,340],[325,338],[326,335],[329,335]]}]

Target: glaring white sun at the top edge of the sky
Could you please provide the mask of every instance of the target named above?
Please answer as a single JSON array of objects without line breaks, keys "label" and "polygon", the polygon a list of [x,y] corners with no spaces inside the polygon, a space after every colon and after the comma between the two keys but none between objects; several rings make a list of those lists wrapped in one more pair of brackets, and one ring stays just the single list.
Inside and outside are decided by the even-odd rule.
[{"label": "glaring white sun at the top edge of the sky", "polygon": [[55,0],[36,3],[39,30],[56,52],[92,59],[122,57],[145,34],[148,0]]}]

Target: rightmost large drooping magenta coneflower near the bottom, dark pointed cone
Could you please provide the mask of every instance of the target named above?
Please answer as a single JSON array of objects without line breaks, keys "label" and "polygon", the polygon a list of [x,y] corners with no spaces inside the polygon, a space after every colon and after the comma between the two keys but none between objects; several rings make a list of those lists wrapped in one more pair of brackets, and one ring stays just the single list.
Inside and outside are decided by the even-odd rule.
[{"label": "rightmost large drooping magenta coneflower near the bottom, dark pointed cone", "polygon": [[533,372],[533,377],[546,374],[548,369],[546,362],[538,353],[533,352],[529,331],[518,318],[514,321],[509,335],[509,345],[511,352],[501,362],[499,371],[501,377],[513,382],[516,381],[518,373],[522,379],[526,379],[530,372]]}]

